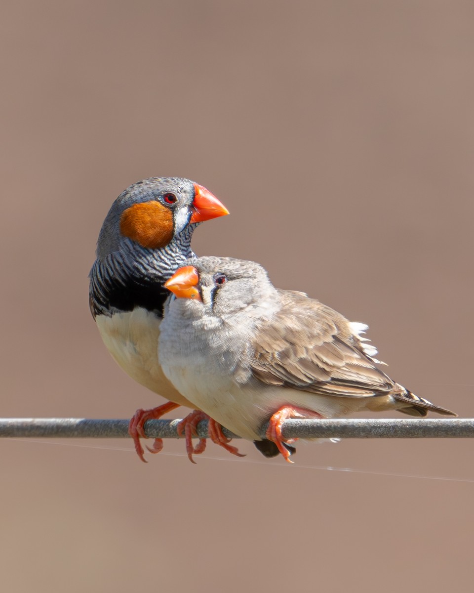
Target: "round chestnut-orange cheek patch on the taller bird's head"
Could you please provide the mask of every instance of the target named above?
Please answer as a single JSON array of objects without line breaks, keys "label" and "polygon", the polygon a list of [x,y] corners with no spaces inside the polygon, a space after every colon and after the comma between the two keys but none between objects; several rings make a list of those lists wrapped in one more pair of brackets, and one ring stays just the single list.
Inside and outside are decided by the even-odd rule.
[{"label": "round chestnut-orange cheek patch on the taller bird's head", "polygon": [[142,247],[159,249],[173,238],[173,215],[158,202],[134,204],[121,215],[120,231]]}]

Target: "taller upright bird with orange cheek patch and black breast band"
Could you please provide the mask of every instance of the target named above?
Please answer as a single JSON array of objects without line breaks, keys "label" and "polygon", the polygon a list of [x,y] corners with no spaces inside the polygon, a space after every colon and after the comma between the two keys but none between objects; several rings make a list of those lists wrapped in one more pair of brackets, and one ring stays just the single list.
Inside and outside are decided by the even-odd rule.
[{"label": "taller upright bird with orange cheek patch and black breast band", "polygon": [[[137,410],[129,426],[142,461],[140,436],[146,420],[178,406],[193,408],[166,379],[158,359],[162,308],[169,292],[165,281],[190,257],[198,223],[228,214],[206,188],[179,177],[152,177],[128,187],[105,217],[97,259],[89,274],[89,302],[105,346],[135,381],[170,400]],[[195,413],[193,419],[202,417]],[[191,426],[192,423],[188,422]],[[188,432],[190,432],[188,430]],[[197,450],[201,452],[201,439]],[[152,452],[162,447],[155,439]]]}]

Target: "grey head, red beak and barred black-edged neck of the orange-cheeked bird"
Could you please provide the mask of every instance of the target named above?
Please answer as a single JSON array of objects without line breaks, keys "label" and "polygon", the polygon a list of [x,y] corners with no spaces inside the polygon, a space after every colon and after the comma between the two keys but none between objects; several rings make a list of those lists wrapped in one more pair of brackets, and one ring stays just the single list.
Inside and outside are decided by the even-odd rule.
[{"label": "grey head, red beak and barred black-edged neck of the orange-cheeked bird", "polygon": [[188,179],[151,177],[127,187],[99,234],[89,274],[92,315],[137,306],[161,311],[165,280],[194,257],[194,229],[228,213],[205,187]]}]

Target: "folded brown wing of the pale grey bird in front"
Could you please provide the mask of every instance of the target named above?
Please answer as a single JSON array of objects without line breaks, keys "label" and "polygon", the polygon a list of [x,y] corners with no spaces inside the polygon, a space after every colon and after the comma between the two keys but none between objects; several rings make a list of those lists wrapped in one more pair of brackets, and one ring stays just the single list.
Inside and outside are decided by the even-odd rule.
[{"label": "folded brown wing of the pale grey bird in front", "polygon": [[399,391],[364,353],[347,319],[301,292],[279,295],[281,310],[262,322],[255,337],[255,377],[269,385],[341,397]]}]

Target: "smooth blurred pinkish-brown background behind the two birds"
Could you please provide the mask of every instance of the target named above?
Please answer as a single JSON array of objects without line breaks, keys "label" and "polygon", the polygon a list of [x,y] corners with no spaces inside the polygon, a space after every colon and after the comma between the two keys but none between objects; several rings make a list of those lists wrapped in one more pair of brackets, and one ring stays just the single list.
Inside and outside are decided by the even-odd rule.
[{"label": "smooth blurred pinkish-brown background behind the two birds", "polygon": [[[433,0],[3,2],[1,416],[161,403],[87,295],[108,208],[150,176],[230,209],[198,254],[369,323],[392,377],[474,416],[473,19]],[[300,444],[290,467],[239,441],[244,460],[209,445],[192,466],[177,441],[145,465],[125,440],[5,440],[2,588],[467,589],[472,445]]]}]

